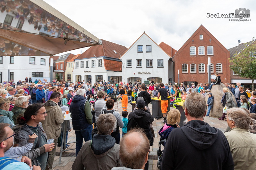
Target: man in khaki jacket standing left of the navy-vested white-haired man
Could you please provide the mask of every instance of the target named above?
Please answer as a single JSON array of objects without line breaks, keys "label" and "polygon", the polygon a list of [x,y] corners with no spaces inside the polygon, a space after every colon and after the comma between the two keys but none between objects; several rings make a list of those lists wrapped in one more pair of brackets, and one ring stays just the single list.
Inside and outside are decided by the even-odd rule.
[{"label": "man in khaki jacket standing left of the navy-vested white-haired man", "polygon": [[[53,143],[55,144],[54,149],[49,152],[49,159],[48,159],[48,168],[52,170],[52,164],[54,161],[54,156],[56,152],[58,137],[60,137],[61,133],[61,123],[64,122],[64,115],[62,114],[62,110],[58,105],[60,101],[60,93],[53,92],[50,100],[44,103],[44,107],[46,109],[46,113],[48,116],[45,117],[45,120],[42,121],[42,125],[46,136],[48,139],[54,139]],[[46,169],[47,169],[46,166]]]}]

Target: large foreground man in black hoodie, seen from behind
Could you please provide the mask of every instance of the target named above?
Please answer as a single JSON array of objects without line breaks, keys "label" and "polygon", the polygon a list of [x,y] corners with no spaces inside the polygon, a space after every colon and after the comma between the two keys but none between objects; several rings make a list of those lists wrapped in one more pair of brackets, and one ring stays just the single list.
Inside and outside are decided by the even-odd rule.
[{"label": "large foreground man in black hoodie, seen from behind", "polygon": [[185,101],[188,123],[170,133],[164,147],[161,169],[234,170],[225,135],[204,122],[204,96],[192,93]]}]

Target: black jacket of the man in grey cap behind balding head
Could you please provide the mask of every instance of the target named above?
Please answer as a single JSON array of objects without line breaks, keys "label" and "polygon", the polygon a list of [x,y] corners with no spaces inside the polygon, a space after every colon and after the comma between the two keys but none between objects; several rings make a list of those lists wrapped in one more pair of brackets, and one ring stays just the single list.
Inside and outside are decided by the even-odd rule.
[{"label": "black jacket of the man in grey cap behind balding head", "polygon": [[148,110],[145,111],[144,109],[136,109],[134,112],[131,112],[128,115],[127,132],[133,128],[139,128],[136,126],[136,123],[133,120],[133,116],[135,121],[139,124],[140,128],[144,129],[150,142],[150,146],[153,146],[154,138],[149,124],[154,121],[154,117],[149,113]]}]

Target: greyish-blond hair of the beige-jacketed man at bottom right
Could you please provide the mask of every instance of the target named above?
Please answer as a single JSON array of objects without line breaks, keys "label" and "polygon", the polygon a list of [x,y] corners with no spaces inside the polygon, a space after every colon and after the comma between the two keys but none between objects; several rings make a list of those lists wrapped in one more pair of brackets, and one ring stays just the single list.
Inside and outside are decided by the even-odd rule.
[{"label": "greyish-blond hair of the beige-jacketed man at bottom right", "polygon": [[235,122],[237,128],[248,130],[252,122],[252,117],[248,113],[238,107],[227,109],[227,117]]}]

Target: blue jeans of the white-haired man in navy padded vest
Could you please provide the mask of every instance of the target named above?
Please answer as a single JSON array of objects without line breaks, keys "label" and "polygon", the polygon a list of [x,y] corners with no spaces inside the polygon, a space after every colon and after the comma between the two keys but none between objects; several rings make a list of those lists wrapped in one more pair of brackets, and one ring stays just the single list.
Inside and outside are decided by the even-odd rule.
[{"label": "blue jeans of the white-haired man in navy padded vest", "polygon": [[87,126],[86,128],[82,130],[75,130],[76,133],[76,156],[83,145],[83,139],[84,142],[87,142],[88,140],[92,140],[92,125]]}]

